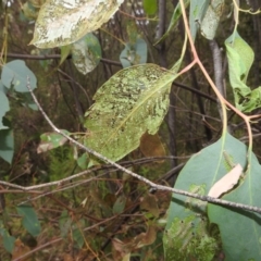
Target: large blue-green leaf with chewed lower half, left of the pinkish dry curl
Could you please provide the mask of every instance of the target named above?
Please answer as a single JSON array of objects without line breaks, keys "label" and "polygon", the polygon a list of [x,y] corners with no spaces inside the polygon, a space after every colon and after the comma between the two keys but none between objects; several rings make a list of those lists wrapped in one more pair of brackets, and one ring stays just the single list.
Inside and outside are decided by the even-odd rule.
[{"label": "large blue-green leaf with chewed lower half, left of the pinkish dry curl", "polygon": [[[228,156],[228,157],[227,157]],[[229,162],[227,163],[227,158],[229,158]],[[229,163],[234,164],[239,163],[244,169],[247,166],[247,148],[244,144],[239,142],[237,139],[232,137],[229,134],[226,134],[215,144],[202,149],[200,152],[190,158],[190,160],[186,163],[183,171],[179,173],[177,182],[175,184],[175,188],[187,190],[190,192],[199,194],[199,195],[208,195],[210,188],[220,181],[229,170]],[[257,182],[257,181],[256,181]],[[257,182],[257,186],[261,186],[261,182]],[[235,188],[237,190],[237,188]],[[245,191],[245,196],[248,197],[250,190]],[[238,202],[239,200],[235,200]],[[260,204],[260,203],[259,203]],[[223,215],[223,213],[220,213]],[[200,217],[200,219],[199,219]],[[173,229],[178,229],[178,222],[185,222],[186,226],[189,227],[191,222],[194,223],[194,232],[198,231],[198,237],[200,238],[200,234],[203,235],[202,239],[208,241],[209,246],[209,254],[213,253],[214,249],[219,249],[217,245],[220,241],[219,233],[216,229],[212,228],[209,222],[204,224],[200,220],[208,220],[207,216],[207,203],[189,198],[182,195],[173,195],[173,199],[169,209],[167,224],[166,224],[166,236],[172,235],[171,232]],[[189,223],[190,222],[190,223]],[[211,220],[212,222],[212,220]],[[235,225],[238,225],[235,222]],[[184,224],[185,225],[185,224]],[[221,224],[222,225],[222,224]],[[204,228],[202,227],[204,226]],[[220,226],[221,228],[221,226]],[[190,228],[189,228],[190,229]],[[191,237],[191,234],[183,235],[181,238],[176,238],[177,245],[171,246],[167,244],[164,246],[165,252],[171,251],[171,247],[175,248],[177,254],[184,254],[183,258],[186,260],[190,254],[189,249],[194,249],[198,251],[198,248],[203,244],[201,239],[197,239],[195,243],[195,238]],[[233,234],[235,238],[240,235]],[[171,237],[172,238],[172,237]],[[234,238],[234,240],[235,240]],[[213,239],[215,239],[213,241]],[[171,240],[166,238],[166,240]],[[222,238],[222,241],[224,238]],[[172,241],[172,240],[171,240]],[[173,241],[172,241],[173,243]],[[175,243],[173,243],[175,244]],[[186,246],[187,244],[191,244],[189,248],[184,248],[183,252],[179,252],[182,246]],[[185,250],[187,249],[187,250]],[[194,258],[197,260],[200,257],[194,252]],[[207,253],[207,251],[206,251]],[[211,260],[211,259],[202,259],[202,260]],[[237,260],[237,259],[234,259]]]}]

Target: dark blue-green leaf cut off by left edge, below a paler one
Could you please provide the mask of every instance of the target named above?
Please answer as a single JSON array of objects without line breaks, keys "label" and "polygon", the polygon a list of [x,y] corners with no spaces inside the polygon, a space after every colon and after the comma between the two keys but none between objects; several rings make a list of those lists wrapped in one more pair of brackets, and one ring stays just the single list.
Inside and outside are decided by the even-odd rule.
[{"label": "dark blue-green leaf cut off by left edge, below a paler one", "polygon": [[[3,117],[3,124],[7,127],[10,127],[10,122]],[[0,129],[0,157],[12,163],[14,153],[14,136],[13,129]]]}]

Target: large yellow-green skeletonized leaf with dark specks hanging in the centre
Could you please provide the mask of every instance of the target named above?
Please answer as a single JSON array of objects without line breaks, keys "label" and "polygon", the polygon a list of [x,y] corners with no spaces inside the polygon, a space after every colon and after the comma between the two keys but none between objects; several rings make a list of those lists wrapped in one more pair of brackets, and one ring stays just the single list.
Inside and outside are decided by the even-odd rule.
[{"label": "large yellow-green skeletonized leaf with dark specks hanging in the centre", "polygon": [[117,72],[97,91],[96,103],[85,114],[85,145],[113,161],[136,149],[144,133],[158,132],[175,77],[156,64]]}]

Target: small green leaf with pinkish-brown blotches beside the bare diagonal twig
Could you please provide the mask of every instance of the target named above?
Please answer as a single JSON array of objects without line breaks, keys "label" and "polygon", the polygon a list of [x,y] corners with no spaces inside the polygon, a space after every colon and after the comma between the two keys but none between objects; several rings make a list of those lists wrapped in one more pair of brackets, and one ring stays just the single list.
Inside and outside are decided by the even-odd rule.
[{"label": "small green leaf with pinkish-brown blotches beside the bare diagonal twig", "polygon": [[[66,135],[70,133],[66,129],[61,129]],[[41,142],[37,147],[37,153],[46,152],[48,150],[63,146],[67,139],[58,133],[45,133],[40,136]]]}]

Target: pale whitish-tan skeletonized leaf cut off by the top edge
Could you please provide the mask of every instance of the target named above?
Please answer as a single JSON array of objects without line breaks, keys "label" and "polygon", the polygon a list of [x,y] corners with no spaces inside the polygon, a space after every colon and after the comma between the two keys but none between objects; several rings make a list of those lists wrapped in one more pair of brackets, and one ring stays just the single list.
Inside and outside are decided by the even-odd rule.
[{"label": "pale whitish-tan skeletonized leaf cut off by the top edge", "polygon": [[36,21],[30,44],[53,48],[74,42],[98,29],[123,0],[47,0]]}]

